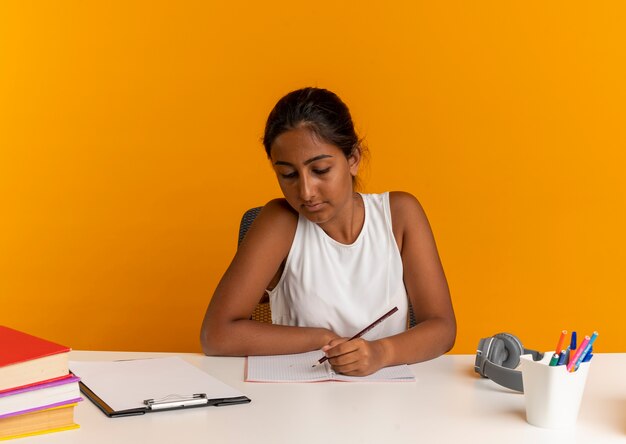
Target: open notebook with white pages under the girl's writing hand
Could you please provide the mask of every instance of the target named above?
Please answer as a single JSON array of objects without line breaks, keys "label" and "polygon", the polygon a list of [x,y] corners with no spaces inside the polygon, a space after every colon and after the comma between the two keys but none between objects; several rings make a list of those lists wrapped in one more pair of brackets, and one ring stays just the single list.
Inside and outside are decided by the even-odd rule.
[{"label": "open notebook with white pages under the girl's writing hand", "polygon": [[312,367],[322,356],[320,351],[294,355],[248,356],[246,382],[414,382],[408,365],[385,367],[368,376],[335,373],[328,361]]}]

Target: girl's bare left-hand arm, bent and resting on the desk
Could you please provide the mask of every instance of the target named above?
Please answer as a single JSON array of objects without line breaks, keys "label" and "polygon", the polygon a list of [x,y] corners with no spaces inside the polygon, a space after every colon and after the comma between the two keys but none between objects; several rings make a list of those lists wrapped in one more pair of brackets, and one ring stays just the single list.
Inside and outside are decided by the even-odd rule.
[{"label": "girl's bare left-hand arm, bent and resting on the desk", "polygon": [[250,319],[268,284],[287,257],[298,214],[284,199],[263,207],[215,289],[202,322],[207,355],[249,356],[320,349],[337,337],[322,328],[273,325]]}]

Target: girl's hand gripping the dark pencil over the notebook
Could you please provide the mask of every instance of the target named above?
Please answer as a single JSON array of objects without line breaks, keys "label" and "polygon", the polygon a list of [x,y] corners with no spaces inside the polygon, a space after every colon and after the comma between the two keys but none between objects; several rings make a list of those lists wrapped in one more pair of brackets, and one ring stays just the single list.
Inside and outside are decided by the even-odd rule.
[{"label": "girl's hand gripping the dark pencil over the notebook", "polygon": [[348,376],[367,376],[385,367],[381,341],[338,338],[322,347],[333,370]]}]

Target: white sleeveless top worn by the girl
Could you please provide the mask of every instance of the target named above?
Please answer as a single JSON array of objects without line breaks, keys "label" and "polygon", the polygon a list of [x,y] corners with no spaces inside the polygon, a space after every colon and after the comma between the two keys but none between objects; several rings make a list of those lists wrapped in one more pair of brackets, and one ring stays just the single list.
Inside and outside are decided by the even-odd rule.
[{"label": "white sleeveless top worn by the girl", "polygon": [[374,340],[406,330],[408,298],[389,193],[361,196],[365,221],[350,245],[299,216],[285,269],[269,292],[274,324],[323,327],[351,337],[397,306],[397,313],[364,337]]}]

